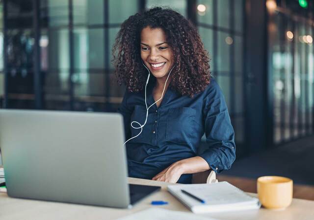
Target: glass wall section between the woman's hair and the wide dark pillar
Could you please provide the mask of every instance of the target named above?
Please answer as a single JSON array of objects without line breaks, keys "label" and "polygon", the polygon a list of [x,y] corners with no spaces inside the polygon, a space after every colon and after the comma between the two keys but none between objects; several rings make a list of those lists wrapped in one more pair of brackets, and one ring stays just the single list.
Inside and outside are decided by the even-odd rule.
[{"label": "glass wall section between the woman's hair and the wide dark pillar", "polygon": [[239,146],[245,140],[244,1],[197,0],[196,6],[198,30],[211,57],[211,74],[224,92]]}]

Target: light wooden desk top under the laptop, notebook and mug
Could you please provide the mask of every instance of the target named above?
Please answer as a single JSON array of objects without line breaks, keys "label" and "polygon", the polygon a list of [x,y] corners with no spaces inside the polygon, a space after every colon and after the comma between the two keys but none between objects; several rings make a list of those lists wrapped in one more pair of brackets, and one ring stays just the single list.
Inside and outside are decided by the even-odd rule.
[{"label": "light wooden desk top under the laptop, notebook and mug", "polygon": [[[89,220],[89,219],[117,219],[140,210],[152,207],[152,200],[165,200],[168,205],[161,208],[190,212],[183,204],[167,192],[169,183],[147,179],[129,178],[133,184],[161,186],[162,189],[143,199],[132,209],[105,208],[88,205],[67,204],[60,202],[47,202],[38,200],[9,198],[0,193],[0,219],[1,220]],[[256,194],[250,194],[255,196]],[[156,206],[155,206],[156,207]],[[261,208],[259,210],[213,213],[209,216],[221,220],[313,220],[314,201],[294,198],[292,204],[284,211],[272,211]]]}]

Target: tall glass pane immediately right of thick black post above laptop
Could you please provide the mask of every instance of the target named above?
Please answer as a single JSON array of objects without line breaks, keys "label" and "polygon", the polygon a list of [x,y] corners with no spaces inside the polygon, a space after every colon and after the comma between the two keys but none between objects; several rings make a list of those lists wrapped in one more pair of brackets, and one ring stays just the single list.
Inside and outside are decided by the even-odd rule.
[{"label": "tall glass pane immediately right of thick black post above laptop", "polygon": [[39,3],[43,108],[70,110],[69,1],[40,0]]}]

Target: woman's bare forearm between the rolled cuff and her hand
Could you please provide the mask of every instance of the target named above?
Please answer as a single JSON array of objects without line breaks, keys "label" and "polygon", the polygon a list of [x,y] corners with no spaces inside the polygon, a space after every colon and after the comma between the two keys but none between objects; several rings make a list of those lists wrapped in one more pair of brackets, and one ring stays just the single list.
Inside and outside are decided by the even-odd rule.
[{"label": "woman's bare forearm between the rolled cuff and her hand", "polygon": [[180,167],[182,174],[195,174],[203,171],[208,171],[210,169],[209,164],[200,156],[194,156],[179,160],[176,166]]}]

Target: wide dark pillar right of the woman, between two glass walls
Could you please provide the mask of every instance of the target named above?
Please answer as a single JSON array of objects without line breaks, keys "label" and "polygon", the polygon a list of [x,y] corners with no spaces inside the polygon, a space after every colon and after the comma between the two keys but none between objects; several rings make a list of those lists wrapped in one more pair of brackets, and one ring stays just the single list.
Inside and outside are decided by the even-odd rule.
[{"label": "wide dark pillar right of the woman, between two glass walls", "polygon": [[[245,96],[248,153],[263,150],[272,140],[272,106],[267,98],[267,31],[265,0],[245,4]],[[269,97],[269,96],[268,96]]]}]

